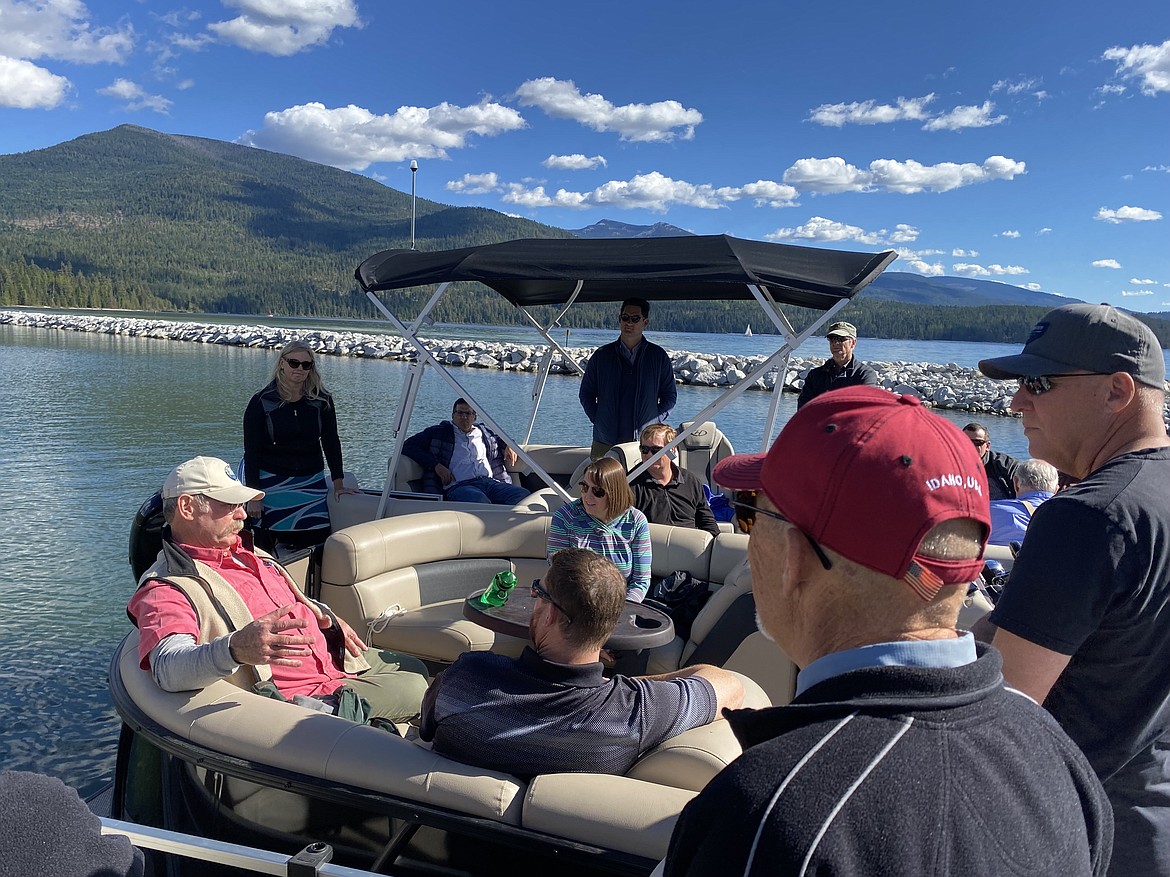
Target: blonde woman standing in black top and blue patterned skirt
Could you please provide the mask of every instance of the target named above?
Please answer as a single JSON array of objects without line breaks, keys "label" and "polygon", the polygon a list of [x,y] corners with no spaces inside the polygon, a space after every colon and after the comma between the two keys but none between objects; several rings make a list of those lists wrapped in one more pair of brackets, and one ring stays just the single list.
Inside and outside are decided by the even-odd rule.
[{"label": "blonde woman standing in black top and blue patterned skirt", "polygon": [[329,491],[338,497],[356,492],[342,485],[343,475],[333,398],[312,350],[291,341],[276,358],[271,381],[243,413],[243,481],[264,491],[262,500],[249,503],[248,515],[262,515],[262,529],[275,541],[292,547],[324,541]]}]

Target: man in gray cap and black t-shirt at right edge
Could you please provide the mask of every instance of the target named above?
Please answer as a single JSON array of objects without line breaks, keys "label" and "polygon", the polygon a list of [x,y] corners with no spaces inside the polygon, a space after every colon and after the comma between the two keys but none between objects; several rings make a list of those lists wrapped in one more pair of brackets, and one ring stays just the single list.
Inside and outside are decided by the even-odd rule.
[{"label": "man in gray cap and black t-shirt at right edge", "polygon": [[1064,726],[1114,808],[1110,875],[1170,875],[1170,440],[1154,332],[1108,305],[1046,313],[1018,380],[1033,457],[1080,482],[1037,509],[990,621],[1009,685]]}]

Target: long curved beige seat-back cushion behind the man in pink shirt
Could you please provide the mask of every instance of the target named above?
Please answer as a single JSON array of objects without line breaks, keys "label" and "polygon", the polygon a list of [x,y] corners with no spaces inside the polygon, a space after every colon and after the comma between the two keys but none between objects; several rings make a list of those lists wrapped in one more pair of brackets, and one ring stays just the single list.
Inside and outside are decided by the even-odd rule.
[{"label": "long curved beige seat-back cushion behind the man in pink shirt", "polygon": [[227,682],[201,691],[163,691],[138,668],[137,631],[121,649],[119,675],[130,697],[180,738],[261,765],[518,822],[524,786],[515,776],[467,767],[379,728],[260,697]]}]

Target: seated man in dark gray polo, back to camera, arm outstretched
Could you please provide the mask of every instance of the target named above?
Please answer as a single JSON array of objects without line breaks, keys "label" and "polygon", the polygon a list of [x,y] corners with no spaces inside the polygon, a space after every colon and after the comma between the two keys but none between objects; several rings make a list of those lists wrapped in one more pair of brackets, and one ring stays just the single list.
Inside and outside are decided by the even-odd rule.
[{"label": "seated man in dark gray polo, back to camera, arm outstretched", "polygon": [[419,736],[436,752],[517,776],[620,774],[742,703],[735,674],[708,664],[605,678],[601,647],[626,600],[625,576],[606,558],[562,548],[532,594],[535,648],[518,658],[464,652],[431,683]]}]

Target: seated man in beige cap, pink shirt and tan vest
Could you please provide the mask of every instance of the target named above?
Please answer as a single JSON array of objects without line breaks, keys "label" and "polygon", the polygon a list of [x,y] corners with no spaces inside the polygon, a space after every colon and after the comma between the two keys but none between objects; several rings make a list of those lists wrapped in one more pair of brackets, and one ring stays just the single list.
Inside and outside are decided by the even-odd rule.
[{"label": "seated man in beige cap, pink shirt and tan vest", "polygon": [[[366,650],[349,624],[243,538],[243,506],[262,496],[216,457],[188,460],[166,477],[163,550],[128,607],[143,669],[167,691],[229,678],[359,720],[418,716],[424,664]],[[339,642],[328,643],[326,631]]]}]

